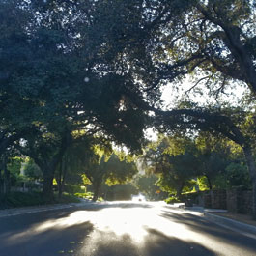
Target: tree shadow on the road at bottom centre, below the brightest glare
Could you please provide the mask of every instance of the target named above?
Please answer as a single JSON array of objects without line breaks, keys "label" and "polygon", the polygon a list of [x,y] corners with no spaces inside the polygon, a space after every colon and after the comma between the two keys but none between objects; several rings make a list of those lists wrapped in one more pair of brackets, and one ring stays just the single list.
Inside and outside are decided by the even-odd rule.
[{"label": "tree shadow on the road at bottom centre, below the brightest glare", "polygon": [[195,242],[168,237],[155,229],[147,229],[142,242],[134,242],[128,234],[101,233],[98,242],[78,255],[87,256],[215,256],[213,251]]}]

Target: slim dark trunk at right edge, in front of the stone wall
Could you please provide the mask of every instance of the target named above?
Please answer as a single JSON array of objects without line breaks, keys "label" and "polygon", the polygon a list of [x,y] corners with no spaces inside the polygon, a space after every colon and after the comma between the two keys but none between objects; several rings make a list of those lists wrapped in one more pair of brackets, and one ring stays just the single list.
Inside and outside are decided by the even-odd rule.
[{"label": "slim dark trunk at right edge, in front of the stone wall", "polygon": [[256,165],[250,147],[242,148],[252,181],[252,212],[256,219]]}]

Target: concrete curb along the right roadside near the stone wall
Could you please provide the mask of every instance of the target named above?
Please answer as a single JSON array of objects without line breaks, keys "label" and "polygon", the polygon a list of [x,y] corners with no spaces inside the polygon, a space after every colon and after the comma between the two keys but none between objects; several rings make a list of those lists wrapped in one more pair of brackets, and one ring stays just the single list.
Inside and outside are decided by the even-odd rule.
[{"label": "concrete curb along the right roadside near the stone wall", "polygon": [[226,227],[228,229],[242,233],[245,236],[256,239],[256,227],[255,226],[252,226],[252,225],[249,225],[249,224],[246,224],[246,223],[243,223],[243,222],[231,219],[231,218],[214,215],[213,213],[205,212],[204,217],[220,226]]}]

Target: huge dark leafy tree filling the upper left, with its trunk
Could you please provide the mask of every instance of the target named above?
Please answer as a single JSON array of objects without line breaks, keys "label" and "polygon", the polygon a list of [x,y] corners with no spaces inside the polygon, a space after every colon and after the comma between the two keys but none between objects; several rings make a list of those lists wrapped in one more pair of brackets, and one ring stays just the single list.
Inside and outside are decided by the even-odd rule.
[{"label": "huge dark leafy tree filling the upper left, with its trunk", "polygon": [[[20,139],[26,140],[26,149],[35,148],[27,154],[43,169],[47,194],[64,153],[62,145],[67,144],[64,140],[73,130],[93,130],[138,149],[144,128],[143,110],[137,106],[141,93],[120,72],[121,62],[115,64],[117,51],[101,50],[105,39],[95,37],[100,34],[96,3],[0,4],[0,104],[5,110],[0,117],[0,151]],[[43,159],[42,149],[49,160]]]}]

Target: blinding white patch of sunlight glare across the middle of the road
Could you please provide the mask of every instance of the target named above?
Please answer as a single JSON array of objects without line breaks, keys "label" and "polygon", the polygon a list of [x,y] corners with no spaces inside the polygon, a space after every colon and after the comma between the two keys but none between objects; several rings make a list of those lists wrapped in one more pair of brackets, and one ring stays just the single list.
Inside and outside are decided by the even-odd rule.
[{"label": "blinding white patch of sunlight glare across the middle of the road", "polygon": [[[90,222],[95,231],[114,233],[119,237],[128,235],[133,242],[143,242],[150,227],[161,230],[165,235],[187,239],[183,225],[170,222],[161,216],[161,204],[155,204],[150,212],[148,211],[150,206],[143,207],[132,202],[127,202],[126,205],[127,208],[112,204],[100,211],[76,211],[65,217],[46,220],[40,225],[35,224],[31,228],[31,232],[38,234],[50,229],[63,230]],[[24,233],[16,234],[10,237],[10,240],[15,241],[22,238],[23,235]],[[92,238],[93,236],[94,234],[91,235]]]}]

